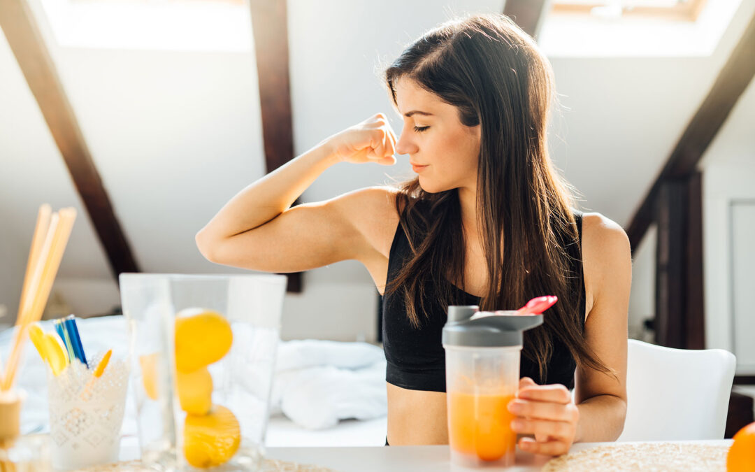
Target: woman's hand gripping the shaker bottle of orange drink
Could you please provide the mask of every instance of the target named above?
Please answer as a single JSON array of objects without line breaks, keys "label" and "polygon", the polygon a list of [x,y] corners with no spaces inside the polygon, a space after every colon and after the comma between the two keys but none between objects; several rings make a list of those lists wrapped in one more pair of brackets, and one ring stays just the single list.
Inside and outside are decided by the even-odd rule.
[{"label": "woman's hand gripping the shaker bottle of orange drink", "polygon": [[522,378],[508,409],[514,415],[511,427],[515,433],[535,435],[535,439],[519,440],[523,451],[562,455],[575,442],[579,410],[562,384],[538,385],[532,378]]}]

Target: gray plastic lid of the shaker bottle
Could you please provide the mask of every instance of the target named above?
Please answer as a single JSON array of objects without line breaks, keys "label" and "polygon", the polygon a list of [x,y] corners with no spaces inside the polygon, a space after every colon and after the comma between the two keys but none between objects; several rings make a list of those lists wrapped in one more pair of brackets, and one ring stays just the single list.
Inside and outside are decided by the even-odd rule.
[{"label": "gray plastic lid of the shaker bottle", "polygon": [[514,315],[514,311],[479,311],[476,305],[448,307],[443,327],[444,346],[510,347],[522,345],[522,332],[543,324],[543,315]]}]

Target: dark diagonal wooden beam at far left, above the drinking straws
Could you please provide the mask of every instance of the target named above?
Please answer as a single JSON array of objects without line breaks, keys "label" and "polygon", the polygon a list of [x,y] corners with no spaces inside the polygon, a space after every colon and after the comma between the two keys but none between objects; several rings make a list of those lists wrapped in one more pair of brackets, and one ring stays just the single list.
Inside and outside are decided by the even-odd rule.
[{"label": "dark diagonal wooden beam at far left, above the drinking straws", "polygon": [[57,144],[105,248],[116,280],[122,272],[139,272],[131,246],[116,218],[100,173],[60,83],[44,39],[26,0],[0,0],[0,28],[5,32],[29,89]]}]

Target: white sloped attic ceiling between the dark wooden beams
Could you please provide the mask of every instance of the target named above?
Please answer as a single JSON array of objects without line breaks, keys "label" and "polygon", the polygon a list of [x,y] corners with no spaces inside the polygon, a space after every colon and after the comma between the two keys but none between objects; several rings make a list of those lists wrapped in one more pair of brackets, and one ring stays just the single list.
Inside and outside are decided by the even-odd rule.
[{"label": "white sloped attic ceiling between the dark wooden beams", "polygon": [[[32,3],[35,0],[32,0]],[[390,109],[381,81],[409,40],[451,12],[499,12],[501,2],[377,4],[289,0],[295,152]],[[552,58],[562,110],[553,120],[556,165],[583,206],[628,224],[755,10],[744,0],[715,53],[686,58]],[[38,17],[41,9],[35,8]],[[45,26],[45,20],[40,20]],[[254,57],[248,52],[60,48],[46,31],[63,87],[140,267],[233,273],[205,261],[194,234],[231,196],[263,175]],[[330,168],[304,193],[328,199],[389,177],[393,168]],[[0,35],[0,304],[20,294],[36,210],[73,205],[79,219],[59,278],[111,277],[106,258],[42,115]],[[344,279],[369,283],[348,265]],[[306,290],[306,285],[305,285]]]}]

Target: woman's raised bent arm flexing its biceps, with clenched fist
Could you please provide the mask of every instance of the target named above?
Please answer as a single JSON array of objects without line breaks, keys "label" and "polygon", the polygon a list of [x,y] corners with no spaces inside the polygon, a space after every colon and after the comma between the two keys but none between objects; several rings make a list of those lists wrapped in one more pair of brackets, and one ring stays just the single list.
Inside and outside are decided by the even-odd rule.
[{"label": "woman's raised bent arm flexing its biceps, with clenched fist", "polygon": [[239,192],[196,235],[202,255],[218,264],[270,272],[320,267],[366,250],[355,206],[375,191],[290,208],[337,162],[393,164],[395,134],[378,114],[319,143]]}]

